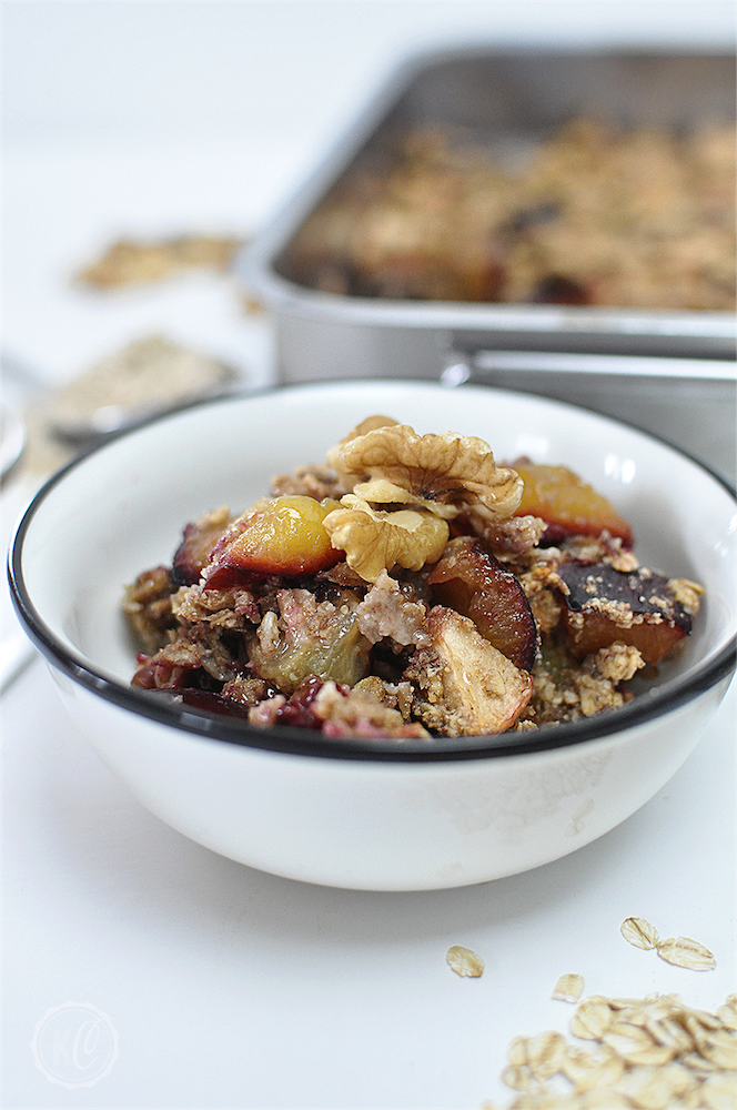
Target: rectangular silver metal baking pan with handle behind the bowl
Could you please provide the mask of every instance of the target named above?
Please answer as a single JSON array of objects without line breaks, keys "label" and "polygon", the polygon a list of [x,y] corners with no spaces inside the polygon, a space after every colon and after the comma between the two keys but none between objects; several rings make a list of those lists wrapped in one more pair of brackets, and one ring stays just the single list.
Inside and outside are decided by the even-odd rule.
[{"label": "rectangular silver metal baking pan with handle behind the bowl", "polygon": [[455,50],[407,62],[241,259],[249,292],[272,313],[281,380],[441,377],[543,394],[654,432],[737,485],[731,312],[401,301],[320,292],[286,276],[290,244],[310,214],[362,160],[381,164],[402,131],[463,127],[504,148],[584,111],[625,125],[728,122],[735,61]]}]

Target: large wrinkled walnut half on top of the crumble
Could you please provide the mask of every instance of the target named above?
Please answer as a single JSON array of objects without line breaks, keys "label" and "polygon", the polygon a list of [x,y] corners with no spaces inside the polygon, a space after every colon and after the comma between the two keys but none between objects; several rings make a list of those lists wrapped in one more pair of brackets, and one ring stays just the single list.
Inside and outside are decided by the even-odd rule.
[{"label": "large wrinkled walnut half on top of the crumble", "polygon": [[438,515],[464,506],[507,519],[522,500],[519,475],[498,467],[484,440],[455,432],[421,436],[408,424],[374,427],[333,447],[327,463],[377,504],[422,504]]}]

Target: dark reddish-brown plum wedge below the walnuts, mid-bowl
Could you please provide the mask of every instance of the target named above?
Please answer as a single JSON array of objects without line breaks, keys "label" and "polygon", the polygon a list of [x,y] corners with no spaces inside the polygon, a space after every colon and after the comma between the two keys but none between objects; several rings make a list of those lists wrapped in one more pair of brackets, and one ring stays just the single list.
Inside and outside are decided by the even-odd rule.
[{"label": "dark reddish-brown plum wedge below the walnuts, mid-bowl", "polygon": [[522,670],[537,650],[537,626],[522,585],[481,539],[452,541],[427,581],[433,602],[471,617],[482,636]]}]

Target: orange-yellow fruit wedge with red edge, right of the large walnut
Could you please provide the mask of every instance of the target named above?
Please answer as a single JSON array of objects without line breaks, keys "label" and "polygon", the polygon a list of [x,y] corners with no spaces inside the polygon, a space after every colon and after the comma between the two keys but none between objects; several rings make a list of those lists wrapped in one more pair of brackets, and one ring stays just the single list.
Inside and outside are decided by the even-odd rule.
[{"label": "orange-yellow fruit wedge with red edge, right of the large walnut", "polygon": [[632,528],[610,501],[568,470],[546,463],[514,463],[525,487],[515,516],[539,516],[561,536],[598,536],[605,529],[633,546]]}]

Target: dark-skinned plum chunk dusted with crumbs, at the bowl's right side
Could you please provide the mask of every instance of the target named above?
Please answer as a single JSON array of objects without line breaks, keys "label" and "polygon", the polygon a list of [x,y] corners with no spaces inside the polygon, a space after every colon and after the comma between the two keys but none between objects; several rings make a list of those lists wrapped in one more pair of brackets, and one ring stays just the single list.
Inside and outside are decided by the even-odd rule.
[{"label": "dark-skinned plum chunk dusted with crumbs, at the bowl's right side", "polygon": [[657,664],[688,635],[690,614],[663,575],[647,567],[615,571],[608,563],[562,563],[564,626],[573,655],[583,659],[610,644],[630,644]]}]

